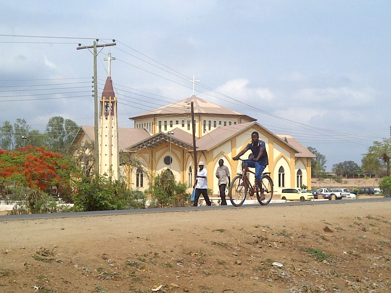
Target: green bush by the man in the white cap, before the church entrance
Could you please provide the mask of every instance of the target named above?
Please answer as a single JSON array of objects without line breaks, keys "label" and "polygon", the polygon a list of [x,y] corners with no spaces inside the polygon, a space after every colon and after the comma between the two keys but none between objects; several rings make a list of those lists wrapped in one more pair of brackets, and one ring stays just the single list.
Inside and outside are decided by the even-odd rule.
[{"label": "green bush by the man in the white cap, before the church entrance", "polygon": [[147,190],[152,197],[149,207],[183,207],[190,202],[186,184],[176,182],[168,169],[156,175],[153,182]]}]

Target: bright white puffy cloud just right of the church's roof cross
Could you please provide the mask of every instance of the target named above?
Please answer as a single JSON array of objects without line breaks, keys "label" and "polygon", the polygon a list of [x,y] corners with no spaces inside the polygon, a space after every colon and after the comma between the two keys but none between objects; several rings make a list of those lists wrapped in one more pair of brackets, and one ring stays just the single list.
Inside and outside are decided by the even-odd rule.
[{"label": "bright white puffy cloud just right of the church's roof cross", "polygon": [[247,79],[229,80],[222,86],[217,87],[216,90],[232,98],[247,102],[254,99],[260,99],[262,101],[271,101],[274,99],[274,94],[269,88],[252,88]]}]

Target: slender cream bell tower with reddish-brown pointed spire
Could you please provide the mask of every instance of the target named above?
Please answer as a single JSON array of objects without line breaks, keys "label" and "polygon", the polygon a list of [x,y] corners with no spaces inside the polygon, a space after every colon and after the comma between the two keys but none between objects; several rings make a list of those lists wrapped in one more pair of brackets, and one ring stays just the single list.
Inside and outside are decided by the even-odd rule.
[{"label": "slender cream bell tower with reddish-brown pointed spire", "polygon": [[118,180],[117,98],[110,76],[106,79],[100,99],[99,156],[99,175],[106,173],[111,180]]}]

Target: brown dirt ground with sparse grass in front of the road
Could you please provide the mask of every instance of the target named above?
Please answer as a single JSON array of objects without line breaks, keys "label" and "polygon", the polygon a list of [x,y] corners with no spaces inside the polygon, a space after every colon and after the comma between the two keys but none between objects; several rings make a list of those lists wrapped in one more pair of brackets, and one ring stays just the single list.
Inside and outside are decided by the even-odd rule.
[{"label": "brown dirt ground with sparse grass in front of the road", "polygon": [[391,201],[355,200],[0,217],[0,292],[390,292],[390,215]]}]

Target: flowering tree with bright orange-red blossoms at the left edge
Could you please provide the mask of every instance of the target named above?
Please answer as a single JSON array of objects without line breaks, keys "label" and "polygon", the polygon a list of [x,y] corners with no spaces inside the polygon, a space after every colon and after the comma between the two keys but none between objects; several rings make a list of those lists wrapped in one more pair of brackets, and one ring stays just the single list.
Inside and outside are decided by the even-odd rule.
[{"label": "flowering tree with bright orange-red blossoms at the left edge", "polygon": [[48,191],[53,185],[69,186],[68,159],[43,147],[0,149],[0,166],[0,193],[4,200],[7,200],[5,186],[8,182],[41,191]]}]

